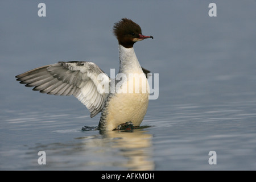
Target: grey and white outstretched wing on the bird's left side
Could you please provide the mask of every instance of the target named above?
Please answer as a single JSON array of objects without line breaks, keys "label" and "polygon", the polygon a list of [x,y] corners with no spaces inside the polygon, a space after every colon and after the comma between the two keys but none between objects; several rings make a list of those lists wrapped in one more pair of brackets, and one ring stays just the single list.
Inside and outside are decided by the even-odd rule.
[{"label": "grey and white outstretched wing on the bird's left side", "polygon": [[[94,63],[86,61],[59,62],[35,68],[16,76],[20,84],[34,87],[40,93],[75,96],[90,111],[98,114],[109,93],[110,78]],[[106,86],[107,85],[107,86]]]}]

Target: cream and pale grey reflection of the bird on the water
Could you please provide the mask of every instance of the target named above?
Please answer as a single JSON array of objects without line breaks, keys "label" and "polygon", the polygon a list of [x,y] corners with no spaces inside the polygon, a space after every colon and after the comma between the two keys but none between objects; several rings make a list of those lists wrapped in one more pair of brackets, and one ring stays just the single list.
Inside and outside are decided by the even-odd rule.
[{"label": "cream and pale grey reflection of the bird on the water", "polygon": [[[85,151],[88,148],[101,148],[99,155],[109,155],[113,159],[113,166],[123,167],[129,170],[153,170],[152,160],[152,135],[140,129],[120,132],[105,131],[102,138],[82,137]],[[89,139],[88,139],[89,138]],[[117,159],[117,160],[115,160]],[[125,159],[125,160],[123,160]]]}]

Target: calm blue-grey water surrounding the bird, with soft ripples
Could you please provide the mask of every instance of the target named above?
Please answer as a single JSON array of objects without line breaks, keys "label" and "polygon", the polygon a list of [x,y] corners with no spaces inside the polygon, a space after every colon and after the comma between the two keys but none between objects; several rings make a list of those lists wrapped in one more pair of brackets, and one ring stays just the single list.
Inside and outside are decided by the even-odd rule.
[{"label": "calm blue-grey water surrounding the bird, with soft ripples", "polygon": [[[215,18],[201,1],[61,2],[45,1],[45,19],[32,1],[1,2],[1,170],[256,169],[255,1],[216,1]],[[135,44],[142,66],[159,73],[159,98],[150,100],[142,129],[84,131],[100,115],[90,118],[72,96],[15,81],[65,60],[94,61],[110,74],[118,69],[111,28],[124,16],[154,36]],[[209,164],[210,151],[217,164]]]}]

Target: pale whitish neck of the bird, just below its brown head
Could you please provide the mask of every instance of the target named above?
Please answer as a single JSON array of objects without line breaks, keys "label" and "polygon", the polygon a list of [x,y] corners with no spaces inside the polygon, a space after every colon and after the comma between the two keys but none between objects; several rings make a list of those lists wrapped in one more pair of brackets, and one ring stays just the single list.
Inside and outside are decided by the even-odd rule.
[{"label": "pale whitish neck of the bird, just below its brown head", "polygon": [[119,73],[143,73],[133,47],[125,48],[119,45]]}]

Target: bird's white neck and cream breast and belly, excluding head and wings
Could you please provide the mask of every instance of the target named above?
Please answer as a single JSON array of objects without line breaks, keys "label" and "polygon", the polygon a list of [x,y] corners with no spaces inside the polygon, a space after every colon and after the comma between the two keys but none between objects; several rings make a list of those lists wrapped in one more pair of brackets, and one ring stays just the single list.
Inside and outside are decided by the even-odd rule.
[{"label": "bird's white neck and cream breast and belly, excluding head and wings", "polygon": [[149,86],[133,48],[119,45],[122,81],[116,86],[115,94],[108,103],[108,130],[125,122],[139,126],[148,106]]}]

